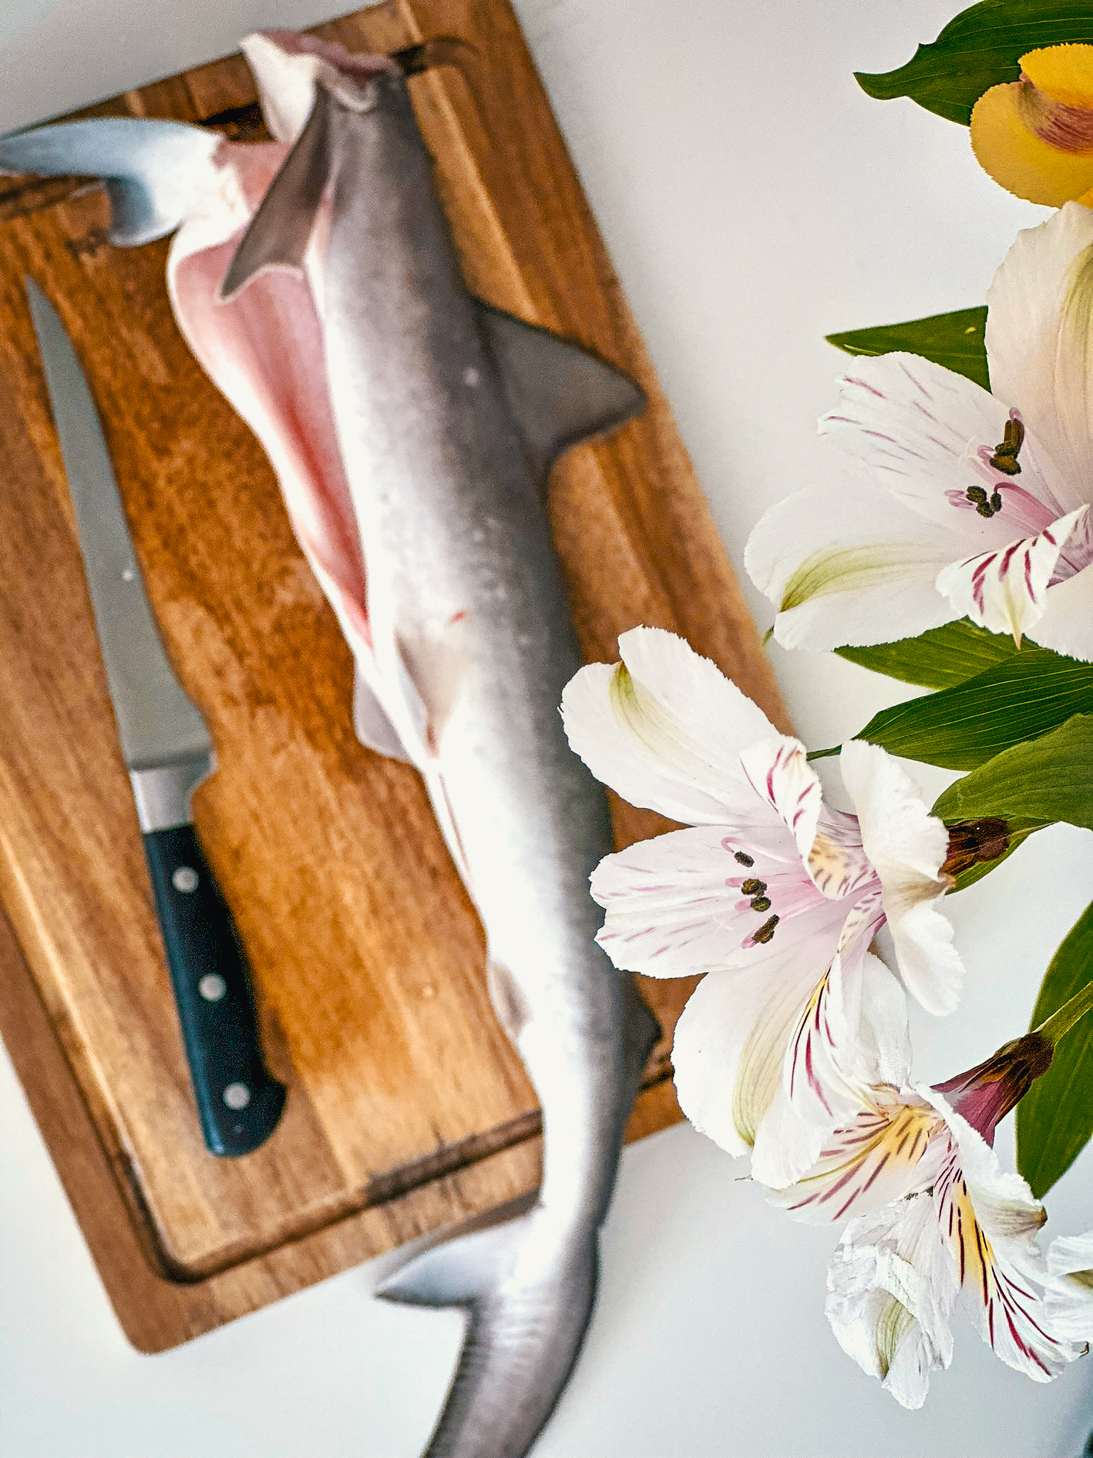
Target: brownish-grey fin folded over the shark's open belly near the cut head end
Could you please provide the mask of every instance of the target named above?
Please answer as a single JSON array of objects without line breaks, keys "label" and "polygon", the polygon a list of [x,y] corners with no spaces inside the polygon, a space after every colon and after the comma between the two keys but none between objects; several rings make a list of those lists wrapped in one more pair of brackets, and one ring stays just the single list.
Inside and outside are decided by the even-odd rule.
[{"label": "brownish-grey fin folded over the shark's open belly near the cut head end", "polygon": [[315,87],[307,124],[239,241],[220,297],[229,303],[264,268],[303,268],[331,171],[331,96]]}]

